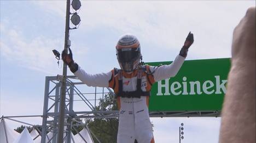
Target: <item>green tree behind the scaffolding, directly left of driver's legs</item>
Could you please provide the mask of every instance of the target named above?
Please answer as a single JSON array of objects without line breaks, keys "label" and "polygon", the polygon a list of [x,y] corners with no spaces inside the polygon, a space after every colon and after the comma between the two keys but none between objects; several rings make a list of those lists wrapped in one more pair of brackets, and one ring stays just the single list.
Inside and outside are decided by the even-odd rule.
[{"label": "green tree behind the scaffolding, directly left of driver's legs", "polygon": [[[103,108],[103,109],[102,109]],[[107,94],[104,96],[104,99],[100,100],[99,105],[96,107],[96,110],[118,110],[118,105],[116,100],[114,99],[113,94]],[[88,127],[90,128],[91,132],[97,136],[98,140],[101,142],[106,143],[113,143],[117,142],[117,133],[118,133],[118,118],[107,118],[107,119],[89,119]],[[94,142],[98,142],[94,136],[92,136]]]}]

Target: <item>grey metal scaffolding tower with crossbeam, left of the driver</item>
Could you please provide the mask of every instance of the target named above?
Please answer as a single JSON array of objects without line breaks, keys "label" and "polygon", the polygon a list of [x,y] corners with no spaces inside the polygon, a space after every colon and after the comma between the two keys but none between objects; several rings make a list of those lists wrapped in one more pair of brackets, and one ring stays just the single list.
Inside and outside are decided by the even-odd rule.
[{"label": "grey metal scaffolding tower with crossbeam, left of the driver", "polygon": [[[45,91],[44,91],[44,107],[43,107],[43,121],[42,121],[42,139],[41,142],[45,142],[47,132],[53,132],[53,138],[49,139],[56,142],[58,134],[58,123],[59,123],[59,105],[60,105],[60,87],[62,76],[57,77],[45,77]],[[67,76],[67,88],[66,88],[66,99],[65,99],[65,115],[64,115],[64,134],[63,140],[67,139],[67,142],[71,142],[71,129],[72,122],[78,122],[80,118],[94,118],[94,117],[118,117],[118,111],[103,111],[96,110],[97,103],[104,99],[105,94],[114,94],[109,88],[102,88],[102,92],[82,93],[78,89],[78,85],[83,84],[75,76]],[[85,86],[84,86],[85,88]],[[104,92],[104,89],[107,89]],[[85,96],[86,95],[86,96]],[[93,95],[93,99],[88,99],[89,95]],[[83,102],[83,111],[74,111],[74,97],[75,101]],[[92,96],[90,96],[92,97]],[[103,104],[102,104],[103,106]],[[103,109],[103,108],[102,108]]]}]

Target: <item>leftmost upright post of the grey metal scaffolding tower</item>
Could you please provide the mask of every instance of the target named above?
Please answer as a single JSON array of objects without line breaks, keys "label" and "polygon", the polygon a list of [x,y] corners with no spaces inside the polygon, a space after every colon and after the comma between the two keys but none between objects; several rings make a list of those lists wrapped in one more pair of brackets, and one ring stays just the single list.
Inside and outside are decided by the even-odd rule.
[{"label": "leftmost upright post of the grey metal scaffolding tower", "polygon": [[48,109],[48,96],[49,96],[49,84],[50,81],[48,77],[45,77],[45,87],[44,87],[44,109],[43,109],[43,122],[42,122],[42,134],[41,142],[45,142],[46,138],[46,128],[47,128],[47,109]]}]

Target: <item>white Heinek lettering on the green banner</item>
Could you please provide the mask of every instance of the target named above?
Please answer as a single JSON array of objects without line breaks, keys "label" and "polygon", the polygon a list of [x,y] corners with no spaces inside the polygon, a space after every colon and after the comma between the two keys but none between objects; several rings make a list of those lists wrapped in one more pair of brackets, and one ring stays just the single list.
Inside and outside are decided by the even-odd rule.
[{"label": "white Heinek lettering on the green banner", "polygon": [[[156,94],[157,96],[162,96],[162,95],[201,95],[201,94],[206,94],[206,95],[211,95],[215,92],[215,94],[226,94],[226,87],[225,84],[228,82],[228,80],[221,80],[220,81],[220,76],[214,76],[215,77],[215,86],[216,90],[213,89],[214,87],[214,82],[211,80],[206,80],[202,84],[199,81],[191,81],[187,82],[187,77],[183,77],[182,84],[179,82],[173,82],[171,86],[169,86],[169,80],[170,79],[165,79],[165,83],[162,84],[161,81],[158,82],[158,93]],[[188,83],[190,86],[190,91],[188,92]],[[201,88],[202,86],[202,88]],[[162,93],[162,90],[165,90],[164,94]],[[202,91],[201,91],[202,89]],[[170,94],[171,91],[171,94]]]}]

